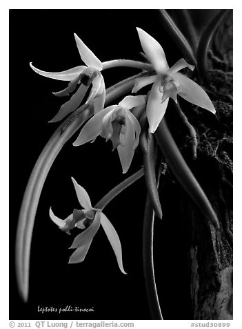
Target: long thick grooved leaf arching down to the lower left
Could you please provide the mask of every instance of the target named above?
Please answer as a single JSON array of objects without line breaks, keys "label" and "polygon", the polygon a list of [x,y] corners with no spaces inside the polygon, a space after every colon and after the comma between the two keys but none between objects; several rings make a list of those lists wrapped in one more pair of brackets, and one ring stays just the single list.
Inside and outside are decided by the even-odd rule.
[{"label": "long thick grooved leaf arching down to the lower left", "polygon": [[[117,97],[128,93],[134,86],[134,75],[128,79],[107,89],[105,104],[112,102]],[[16,273],[19,294],[23,301],[28,300],[28,280],[30,267],[30,246],[34,219],[37,212],[39,198],[44,182],[50,168],[61,151],[65,142],[79,129],[81,124],[93,114],[90,104],[84,104],[81,108],[70,114],[69,117],[57,128],[49,142],[44,147],[39,159],[28,180],[28,185],[23,196],[16,238]]]}]

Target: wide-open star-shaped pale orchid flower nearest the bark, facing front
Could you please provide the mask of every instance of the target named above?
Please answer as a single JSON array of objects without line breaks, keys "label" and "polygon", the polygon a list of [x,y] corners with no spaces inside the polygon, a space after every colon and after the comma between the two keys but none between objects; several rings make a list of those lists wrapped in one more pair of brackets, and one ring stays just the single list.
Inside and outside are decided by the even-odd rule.
[{"label": "wide-open star-shaped pale orchid flower nearest the bark, facing front", "polygon": [[137,28],[137,31],[145,56],[149,59],[152,66],[154,66],[157,73],[148,77],[138,77],[135,80],[132,90],[133,93],[137,93],[144,86],[153,84],[146,107],[150,132],[154,133],[157,130],[165,114],[170,97],[174,102],[177,102],[177,95],[180,95],[188,102],[215,113],[214,106],[203,88],[178,72],[185,67],[194,70],[194,66],[188,64],[182,58],[169,68],[164,50],[158,41],[141,28]]}]

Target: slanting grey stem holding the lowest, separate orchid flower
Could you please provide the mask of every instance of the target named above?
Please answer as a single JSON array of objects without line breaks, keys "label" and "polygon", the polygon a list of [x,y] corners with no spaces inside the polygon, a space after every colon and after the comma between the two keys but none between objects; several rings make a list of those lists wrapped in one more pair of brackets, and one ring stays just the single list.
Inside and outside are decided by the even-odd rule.
[{"label": "slanting grey stem holding the lowest, separate orchid flower", "polygon": [[95,208],[103,210],[110,201],[121,193],[124,189],[132,185],[144,174],[143,168],[139,169],[136,173],[133,173],[130,177],[126,178],[119,185],[115,186],[111,191],[108,192],[99,202],[95,205]]}]

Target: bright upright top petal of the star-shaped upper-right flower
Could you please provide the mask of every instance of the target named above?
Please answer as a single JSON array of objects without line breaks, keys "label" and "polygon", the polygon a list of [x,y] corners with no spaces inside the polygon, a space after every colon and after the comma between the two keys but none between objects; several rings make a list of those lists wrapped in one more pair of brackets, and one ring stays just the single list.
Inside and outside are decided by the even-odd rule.
[{"label": "bright upright top petal of the star-shaped upper-right flower", "polygon": [[165,73],[168,71],[168,62],[166,61],[164,50],[159,42],[141,28],[137,28],[137,31],[143,51],[150,60],[150,63],[154,66],[155,71],[157,71],[157,73]]}]

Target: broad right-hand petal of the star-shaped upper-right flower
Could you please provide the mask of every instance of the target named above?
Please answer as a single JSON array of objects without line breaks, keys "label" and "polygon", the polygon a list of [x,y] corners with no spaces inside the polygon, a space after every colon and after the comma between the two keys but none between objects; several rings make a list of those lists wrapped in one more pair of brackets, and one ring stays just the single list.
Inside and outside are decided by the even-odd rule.
[{"label": "broad right-hand petal of the star-shaped upper-right flower", "polygon": [[184,100],[200,106],[214,114],[216,113],[210,97],[208,97],[208,94],[205,93],[199,84],[196,84],[196,82],[181,73],[174,73],[172,74],[172,77],[179,82],[180,86],[178,88],[178,94],[183,97]]}]

